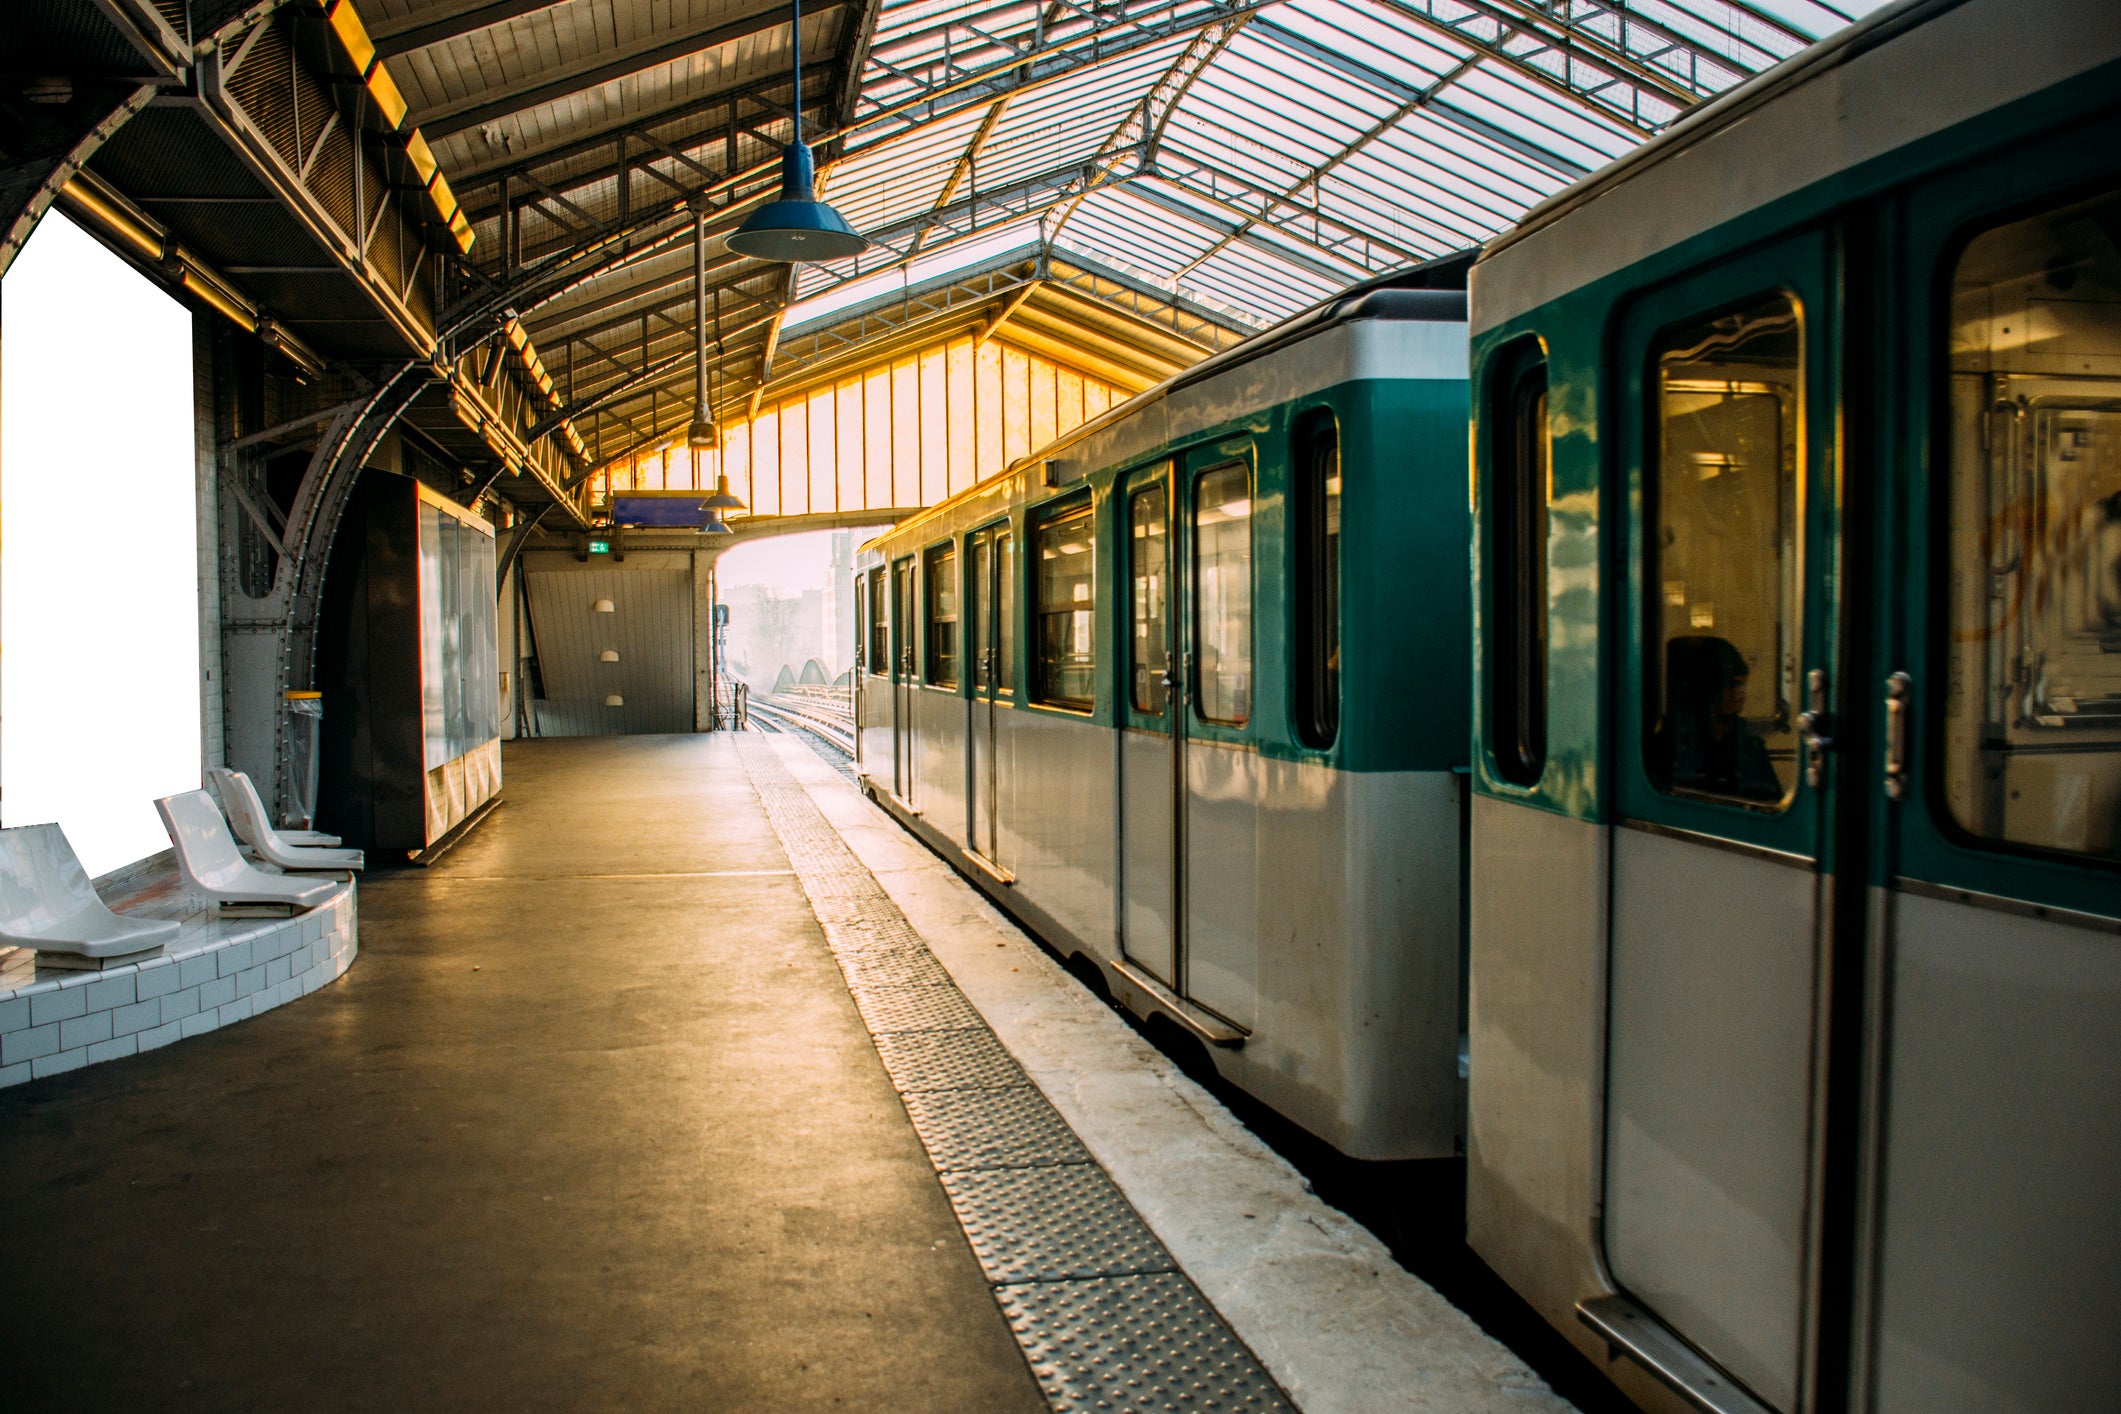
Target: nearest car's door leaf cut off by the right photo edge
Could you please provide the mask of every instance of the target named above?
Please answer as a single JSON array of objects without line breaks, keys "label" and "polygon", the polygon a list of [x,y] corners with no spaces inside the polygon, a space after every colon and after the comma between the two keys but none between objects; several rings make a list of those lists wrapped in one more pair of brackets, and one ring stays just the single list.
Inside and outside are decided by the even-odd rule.
[{"label": "nearest car's door leaf cut off by the right photo edge", "polygon": [[1911,193],[1881,261],[1909,409],[1879,458],[1905,591],[1862,685],[1883,1001],[1856,1403],[1881,1414],[2121,1386],[2117,142],[2106,117]]}]

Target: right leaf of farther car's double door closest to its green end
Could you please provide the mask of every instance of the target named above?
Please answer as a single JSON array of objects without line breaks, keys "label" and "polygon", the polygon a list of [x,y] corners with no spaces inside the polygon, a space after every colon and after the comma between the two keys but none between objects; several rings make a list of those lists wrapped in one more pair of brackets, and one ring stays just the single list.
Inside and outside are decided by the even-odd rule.
[{"label": "right leaf of farther car's double door closest to its green end", "polygon": [[1251,744],[1251,445],[1190,452],[1173,621],[1184,644],[1177,753],[1179,990],[1249,1028],[1258,1009],[1258,801]]}]

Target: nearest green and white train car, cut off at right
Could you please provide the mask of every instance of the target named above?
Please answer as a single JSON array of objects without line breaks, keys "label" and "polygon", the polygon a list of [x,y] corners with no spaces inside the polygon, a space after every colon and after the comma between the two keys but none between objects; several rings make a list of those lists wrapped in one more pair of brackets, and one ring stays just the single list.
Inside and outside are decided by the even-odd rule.
[{"label": "nearest green and white train car, cut off at right", "polygon": [[1472,377],[1472,1247],[1648,1408],[2117,1408],[2121,6],[1688,117]]}]

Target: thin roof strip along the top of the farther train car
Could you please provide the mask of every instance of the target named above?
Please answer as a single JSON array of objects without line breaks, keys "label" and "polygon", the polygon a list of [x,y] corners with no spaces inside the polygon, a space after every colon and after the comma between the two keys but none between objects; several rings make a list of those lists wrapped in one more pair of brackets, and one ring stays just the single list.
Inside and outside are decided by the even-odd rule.
[{"label": "thin roof strip along the top of the farther train car", "polygon": [[1152,403],[1160,403],[1169,399],[1173,392],[1198,386],[1211,377],[1217,377],[1222,373],[1228,373],[1230,369],[1264,358],[1292,343],[1302,343],[1304,339],[1317,337],[1328,329],[1351,324],[1355,320],[1461,324],[1466,322],[1466,276],[1472,271],[1474,254],[1476,252],[1472,250],[1459,250],[1447,257],[1438,257],[1434,261],[1408,265],[1406,269],[1396,269],[1391,273],[1366,280],[1336,295],[1330,295],[1319,303],[1311,305],[1309,310],[1304,310],[1302,314],[1292,314],[1273,329],[1262,329],[1243,343],[1237,343],[1220,354],[1203,358],[1190,369],[1173,373],[1164,382],[1156,384],[1154,388],[1137,392],[1124,403],[1114,403],[1109,409],[1105,409],[1097,418],[1090,418],[1088,422],[1073,428],[1065,437],[1056,437],[1044,447],[1031,452],[1029,456],[1010,462],[1007,466],[986,477],[984,481],[976,481],[974,485],[967,485],[954,496],[937,500],[921,515],[904,519],[891,530],[872,536],[861,545],[861,549],[870,549],[878,541],[899,534],[901,530],[908,530],[912,526],[923,526],[937,515],[946,515],[954,511],[961,502],[971,500],[974,496],[988,494],[991,490],[1005,483],[1024,466],[1035,466],[1039,462],[1052,460],[1067,447],[1073,447],[1094,437],[1097,432],[1103,432],[1105,428],[1118,426],[1128,418],[1141,416],[1141,411],[1147,409]]}]

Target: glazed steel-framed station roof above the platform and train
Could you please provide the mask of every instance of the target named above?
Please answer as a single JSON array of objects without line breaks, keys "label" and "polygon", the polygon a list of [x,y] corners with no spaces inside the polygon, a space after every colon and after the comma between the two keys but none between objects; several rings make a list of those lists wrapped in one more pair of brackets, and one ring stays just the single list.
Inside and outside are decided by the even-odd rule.
[{"label": "glazed steel-framed station roof above the platform and train", "polygon": [[[112,76],[110,131],[64,191],[291,356],[433,365],[437,392],[403,424],[443,458],[528,466],[511,498],[579,522],[592,494],[681,483],[696,218],[711,401],[749,462],[685,454],[685,479],[751,477],[768,441],[781,460],[802,441],[838,469],[774,466],[776,483],[872,485],[848,452],[908,437],[906,379],[912,445],[937,437],[929,422],[1014,426],[1041,396],[1067,430],[1065,409],[1094,416],[1334,290],[1480,244],[1871,8],[197,0],[176,36],[187,6],[110,0],[64,15],[129,15],[176,78],[134,93]],[[102,42],[40,23],[30,68],[70,45],[81,70]],[[791,267],[723,244],[778,195],[797,112],[819,195],[872,242],[857,259]],[[952,388],[971,401],[923,401]],[[942,445],[948,475],[914,473],[923,502],[1014,449],[978,437]]]}]

